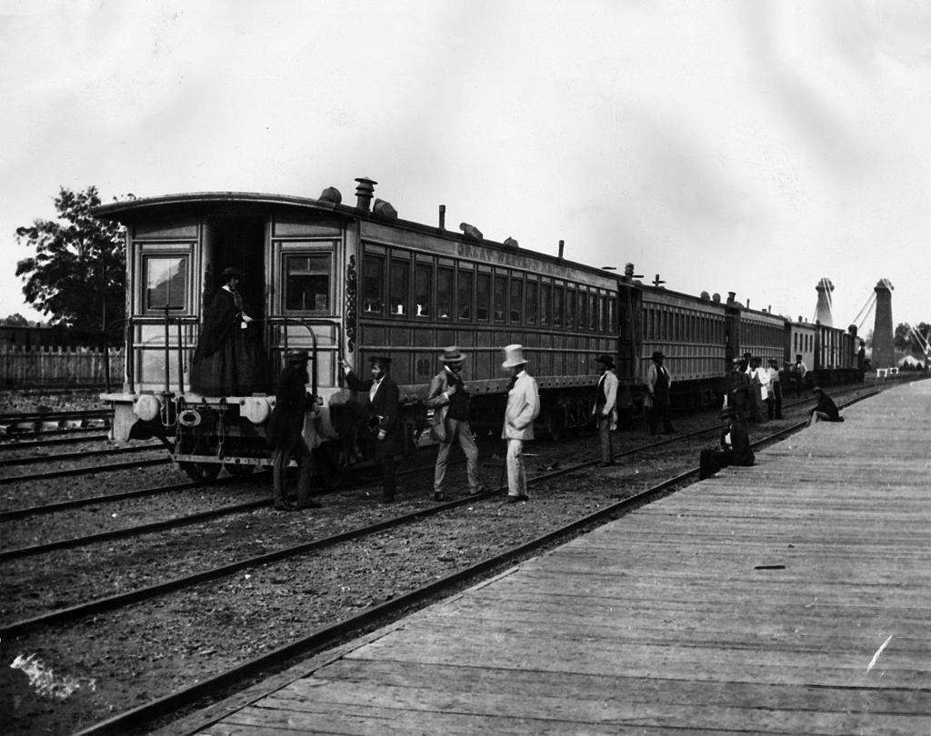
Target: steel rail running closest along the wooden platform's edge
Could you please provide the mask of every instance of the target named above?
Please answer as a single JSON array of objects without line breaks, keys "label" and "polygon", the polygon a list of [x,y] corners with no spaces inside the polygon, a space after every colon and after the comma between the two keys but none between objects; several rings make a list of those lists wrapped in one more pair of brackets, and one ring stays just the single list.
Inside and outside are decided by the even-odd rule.
[{"label": "steel rail running closest along the wooden platform's edge", "polygon": [[[851,401],[848,404],[844,404],[843,406],[849,406],[852,403],[856,403],[857,401],[867,398],[870,395],[876,395],[877,393],[879,392],[859,396],[854,401]],[[773,435],[764,437],[761,440],[752,443],[752,447],[759,448],[764,444],[776,442],[784,435],[797,432],[799,429],[807,426],[807,424],[808,422],[798,422],[791,425],[790,427],[778,430]],[[555,477],[557,475],[566,475],[573,470],[577,470],[580,467],[587,467],[591,464],[593,463],[586,462],[577,466],[573,466],[573,468],[557,470],[544,476],[536,476],[534,480],[539,482],[540,480]],[[619,514],[627,513],[631,509],[634,509],[643,503],[651,502],[658,495],[665,493],[670,488],[675,488],[676,486],[689,481],[697,474],[698,468],[693,468],[672,478],[668,478],[667,480],[656,484],[652,488],[642,490],[639,493],[635,493],[633,496],[629,496],[626,499],[606,506],[599,511],[575,519],[569,524],[560,527],[560,529],[553,529],[552,531],[549,531],[546,534],[531,540],[530,542],[524,542],[515,547],[512,547],[509,550],[506,550],[503,553],[487,557],[475,565],[472,565],[466,569],[457,570],[451,575],[441,578],[438,581],[427,583],[426,585],[406,594],[398,595],[397,597],[392,598],[390,601],[385,603],[372,606],[369,609],[361,611],[355,616],[347,617],[329,626],[322,626],[308,636],[304,636],[297,641],[293,641],[284,647],[267,652],[266,654],[249,660],[248,662],[237,664],[236,666],[231,667],[219,675],[201,680],[188,688],[177,689],[174,692],[169,693],[169,695],[155,699],[149,703],[143,703],[136,708],[132,708],[131,710],[119,714],[118,716],[114,716],[105,721],[102,721],[101,723],[91,726],[88,729],[78,731],[76,734],[74,734],[74,736],[104,736],[105,734],[124,733],[128,729],[139,728],[143,724],[151,723],[156,718],[167,716],[170,713],[181,709],[182,707],[196,703],[196,701],[202,697],[216,696],[219,691],[223,691],[223,689],[229,689],[230,687],[247,678],[262,673],[264,670],[274,668],[280,665],[281,662],[287,662],[291,658],[298,655],[305,656],[309,652],[327,649],[331,646],[334,646],[350,632],[371,627],[374,622],[377,622],[385,617],[397,615],[398,613],[404,611],[405,609],[409,609],[412,606],[420,606],[428,599],[437,595],[446,595],[451,591],[451,589],[459,584],[474,580],[477,576],[482,575],[490,570],[500,569],[506,565],[513,565],[523,556],[529,555],[530,553],[545,547],[547,544],[558,542],[561,539],[576,533],[580,529],[585,529],[591,525],[600,525],[606,519],[610,519],[611,517]],[[211,722],[216,722],[221,717],[223,716],[216,716],[211,719]]]}]

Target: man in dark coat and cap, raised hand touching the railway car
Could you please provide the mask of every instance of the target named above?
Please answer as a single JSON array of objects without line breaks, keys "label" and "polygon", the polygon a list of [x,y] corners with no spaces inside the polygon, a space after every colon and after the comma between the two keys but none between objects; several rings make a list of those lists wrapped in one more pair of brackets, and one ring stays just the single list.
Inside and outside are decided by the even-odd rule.
[{"label": "man in dark coat and cap, raised hand touching the railway car", "polygon": [[400,395],[398,384],[388,375],[391,358],[377,355],[371,360],[371,379],[362,381],[352,372],[349,361],[343,360],[346,383],[353,391],[366,392],[365,408],[369,413],[369,429],[375,435],[375,456],[382,461],[384,473],[382,501],[395,500],[395,455],[403,449],[400,422]]}]

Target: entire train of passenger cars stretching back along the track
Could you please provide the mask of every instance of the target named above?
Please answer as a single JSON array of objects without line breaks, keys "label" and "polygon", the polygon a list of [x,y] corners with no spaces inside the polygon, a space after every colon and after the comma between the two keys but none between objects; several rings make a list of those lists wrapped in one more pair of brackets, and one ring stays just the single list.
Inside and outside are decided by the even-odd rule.
[{"label": "entire train of passenger cars stretching back along the track", "polygon": [[[95,217],[125,226],[126,371],[121,389],[101,398],[113,408],[113,438],[158,437],[192,478],[223,468],[248,475],[270,465],[264,427],[284,354],[310,355],[308,391],[320,397],[308,418],[317,470],[336,483],[359,462],[359,402],[339,369],[364,373],[388,355],[401,393],[406,447],[424,443],[424,405],[443,347],[467,354],[476,435],[500,432],[507,380],[501,349],[524,346],[540,389],[539,431],[559,438],[589,421],[599,374],[595,357],[614,355],[625,403],[641,406],[654,351],[666,355],[673,401],[720,401],[736,355],[788,366],[803,355],[809,381],[856,381],[856,328],[792,320],[736,300],[644,283],[624,272],[492,241],[473,225],[406,221],[378,183],[355,180],[355,205],[335,187],[317,198],[209,192],[116,201]],[[206,305],[229,267],[247,277],[244,299],[259,326],[269,385],[249,395],[201,395],[191,360]],[[309,425],[313,422],[313,426]]]}]

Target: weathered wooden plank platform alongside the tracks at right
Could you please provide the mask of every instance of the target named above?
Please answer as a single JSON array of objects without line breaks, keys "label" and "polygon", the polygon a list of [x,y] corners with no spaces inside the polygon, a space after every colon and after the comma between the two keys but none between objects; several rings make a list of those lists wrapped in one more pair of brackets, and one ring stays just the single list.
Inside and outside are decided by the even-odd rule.
[{"label": "weathered wooden plank platform alongside the tracks at right", "polygon": [[931,381],[843,414],[202,733],[928,736]]}]

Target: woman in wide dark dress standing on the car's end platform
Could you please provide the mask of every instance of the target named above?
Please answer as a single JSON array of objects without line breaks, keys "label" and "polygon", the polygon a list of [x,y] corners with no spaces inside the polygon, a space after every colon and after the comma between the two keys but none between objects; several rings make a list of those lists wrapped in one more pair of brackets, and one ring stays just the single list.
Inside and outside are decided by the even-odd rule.
[{"label": "woman in wide dark dress standing on the car's end platform", "polygon": [[191,364],[191,389],[212,396],[250,395],[264,388],[263,356],[252,337],[254,320],[238,291],[242,272],[227,268],[222,275],[225,283],[204,314]]}]

